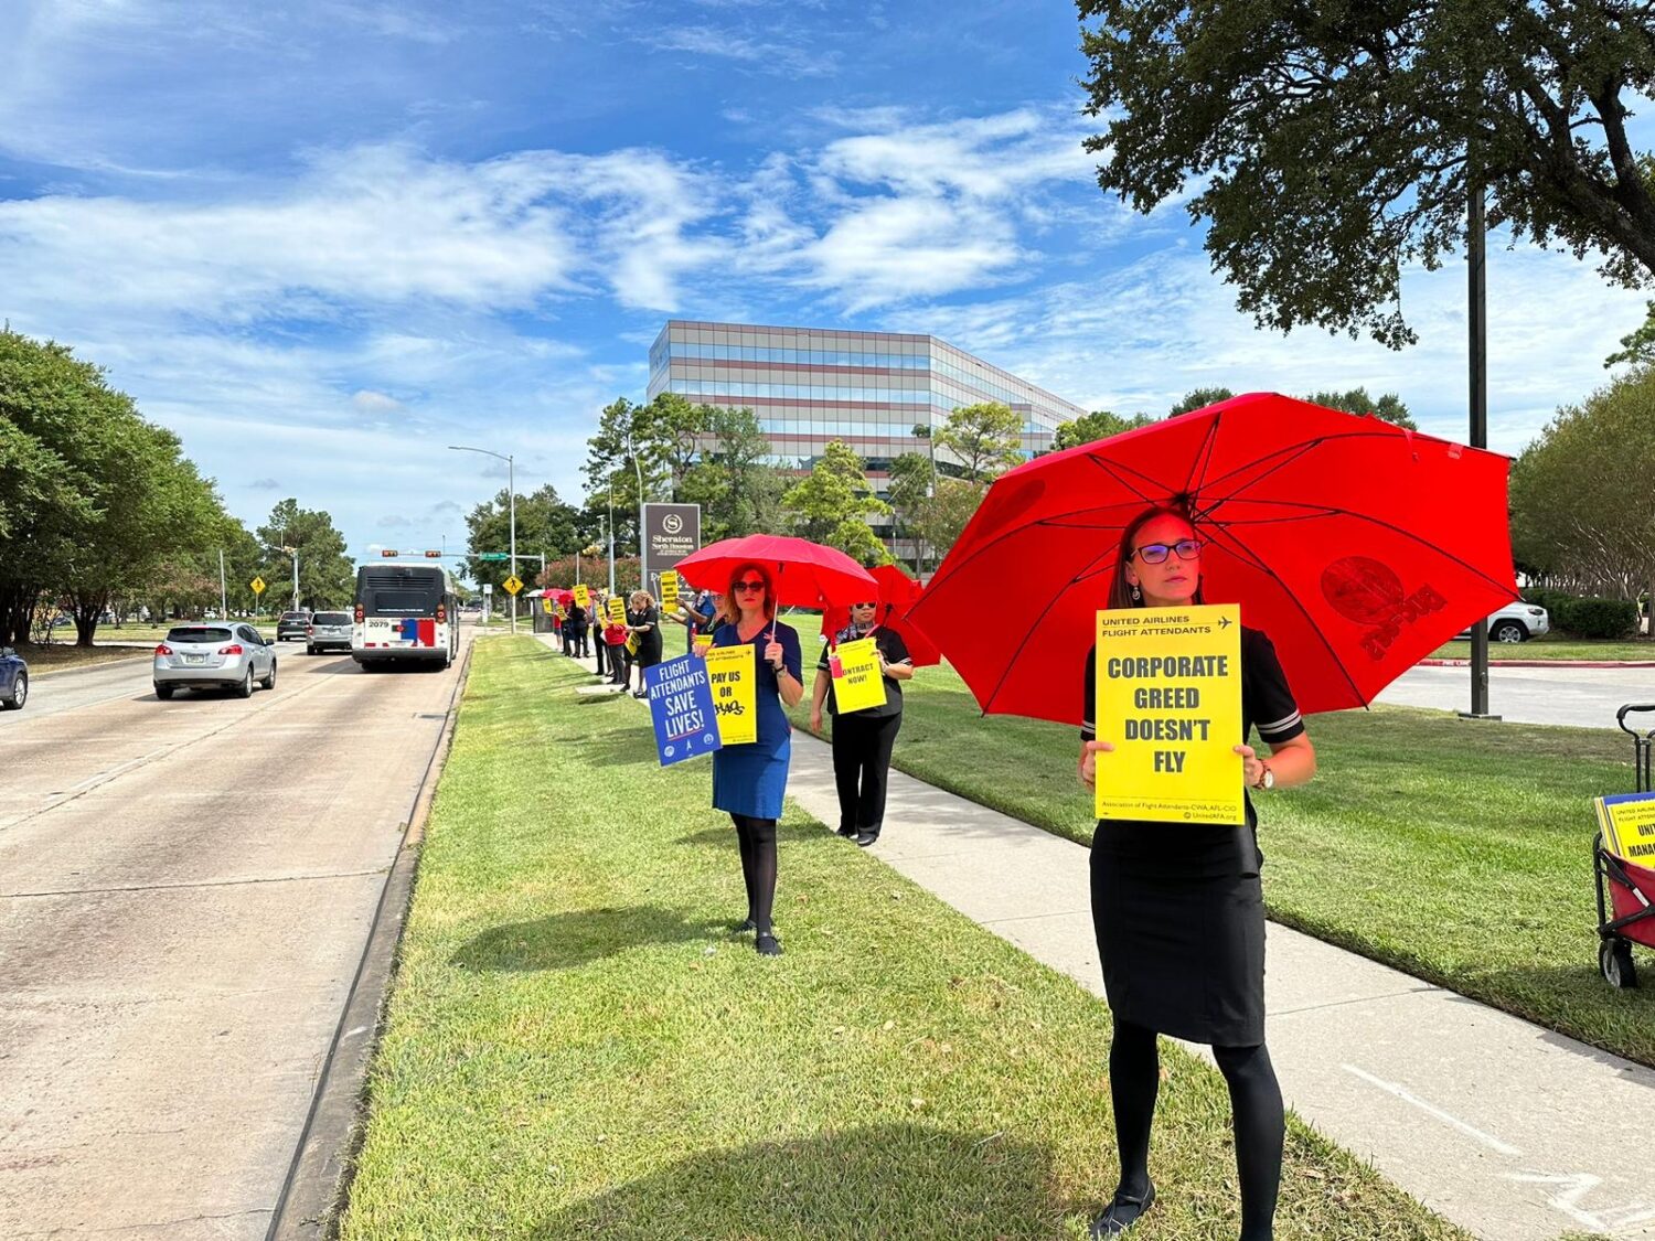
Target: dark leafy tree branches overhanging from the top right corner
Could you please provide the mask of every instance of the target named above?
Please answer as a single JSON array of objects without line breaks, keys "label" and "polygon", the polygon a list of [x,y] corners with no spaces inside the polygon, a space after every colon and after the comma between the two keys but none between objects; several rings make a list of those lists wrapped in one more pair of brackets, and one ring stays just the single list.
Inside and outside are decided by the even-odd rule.
[{"label": "dark leafy tree branches overhanging from the top right corner", "polygon": [[1460,245],[1473,184],[1490,225],[1602,250],[1619,285],[1655,273],[1652,162],[1625,124],[1655,78],[1642,3],[1079,10],[1086,111],[1111,117],[1086,142],[1099,185],[1145,213],[1198,187],[1187,210],[1261,326],[1410,344],[1402,270]]}]

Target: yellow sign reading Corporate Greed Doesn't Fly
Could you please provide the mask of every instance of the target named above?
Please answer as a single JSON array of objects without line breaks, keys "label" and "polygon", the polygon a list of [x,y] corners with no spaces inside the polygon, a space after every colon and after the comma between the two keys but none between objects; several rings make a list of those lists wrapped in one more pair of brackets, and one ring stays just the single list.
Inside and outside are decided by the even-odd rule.
[{"label": "yellow sign reading Corporate Greed Doesn't Fly", "polygon": [[1246,822],[1241,609],[1097,614],[1097,817]]}]

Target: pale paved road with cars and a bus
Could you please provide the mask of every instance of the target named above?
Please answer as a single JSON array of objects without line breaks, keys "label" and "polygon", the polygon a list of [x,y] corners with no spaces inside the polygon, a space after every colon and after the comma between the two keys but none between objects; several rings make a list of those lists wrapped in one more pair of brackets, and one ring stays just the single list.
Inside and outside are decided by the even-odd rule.
[{"label": "pale paved road with cars and a bus", "polygon": [[265,1234],[457,677],[0,715],[0,1238]]}]

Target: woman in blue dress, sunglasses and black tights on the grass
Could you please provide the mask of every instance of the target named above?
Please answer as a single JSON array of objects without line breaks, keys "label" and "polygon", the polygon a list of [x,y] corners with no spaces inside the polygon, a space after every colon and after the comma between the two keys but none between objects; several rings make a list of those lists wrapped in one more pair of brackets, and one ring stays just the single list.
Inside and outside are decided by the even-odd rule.
[{"label": "woman in blue dress, sunglasses and black tights on the grass", "polygon": [[793,755],[793,725],[788,707],[804,697],[799,635],[776,622],[776,587],[770,571],[743,564],[730,574],[725,596],[735,612],[732,624],[713,634],[713,649],[753,649],[753,707],[756,740],[725,743],[713,755],[713,807],[735,822],[741,850],[741,879],[746,882],[746,918],[738,932],[755,932],[753,946],[765,956],[780,956],[771,923],[776,902],[776,821],[788,788],[788,759]]}]

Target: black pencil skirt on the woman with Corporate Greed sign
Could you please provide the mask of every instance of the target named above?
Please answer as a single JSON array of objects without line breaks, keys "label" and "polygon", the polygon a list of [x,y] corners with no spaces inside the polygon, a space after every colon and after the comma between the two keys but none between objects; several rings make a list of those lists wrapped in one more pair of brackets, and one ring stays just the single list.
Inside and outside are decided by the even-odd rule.
[{"label": "black pencil skirt on the woman with Corporate Greed sign", "polygon": [[[1165,831],[1165,824],[1145,826]],[[1258,870],[1145,864],[1119,824],[1092,841],[1092,927],[1115,1016],[1187,1042],[1264,1041],[1264,895]],[[1251,832],[1248,832],[1251,836]],[[1195,859],[1190,859],[1195,862]]]}]

